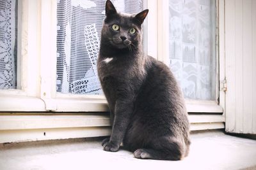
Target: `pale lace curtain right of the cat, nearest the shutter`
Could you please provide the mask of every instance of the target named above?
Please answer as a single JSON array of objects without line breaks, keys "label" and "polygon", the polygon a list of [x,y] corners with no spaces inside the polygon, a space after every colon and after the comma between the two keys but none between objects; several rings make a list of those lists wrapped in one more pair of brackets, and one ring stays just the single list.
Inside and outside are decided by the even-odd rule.
[{"label": "pale lace curtain right of the cat, nearest the shutter", "polygon": [[215,2],[170,0],[170,67],[188,99],[215,97]]}]

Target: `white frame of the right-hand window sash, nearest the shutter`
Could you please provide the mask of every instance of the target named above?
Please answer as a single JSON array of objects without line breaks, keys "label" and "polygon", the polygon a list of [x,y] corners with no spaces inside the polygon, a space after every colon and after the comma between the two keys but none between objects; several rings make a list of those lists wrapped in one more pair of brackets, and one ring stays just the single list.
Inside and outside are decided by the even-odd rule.
[{"label": "white frame of the right-hand window sash, nearest the shutter", "polygon": [[[223,78],[223,71],[220,69],[220,58],[224,57],[219,53],[219,25],[220,20],[220,13],[224,13],[224,0],[216,0],[215,9],[216,9],[216,98],[215,100],[193,100],[193,99],[185,99],[187,110],[189,113],[223,113],[223,94],[220,95],[220,80]],[[156,6],[156,5],[155,5]],[[156,8],[156,7],[155,7]],[[169,23],[166,22],[169,20],[169,1],[157,1],[157,20],[158,20],[158,28],[157,28],[157,59],[164,62],[168,65],[168,56],[169,56]],[[222,17],[222,16],[221,16]],[[221,22],[221,24],[224,24]],[[221,101],[221,102],[220,102]],[[221,105],[220,105],[221,104]]]}]

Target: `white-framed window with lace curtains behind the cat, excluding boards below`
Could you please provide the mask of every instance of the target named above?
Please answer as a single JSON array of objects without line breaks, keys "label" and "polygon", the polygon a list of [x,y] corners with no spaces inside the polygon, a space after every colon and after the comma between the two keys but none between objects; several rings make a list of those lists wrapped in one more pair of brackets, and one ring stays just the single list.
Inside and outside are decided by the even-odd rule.
[{"label": "white-framed window with lace curtains behind the cat, excluding boards below", "polygon": [[[1,6],[4,6],[3,2],[1,1]],[[17,2],[20,13],[18,17],[22,22],[17,28],[20,20],[18,19],[15,28],[18,33],[20,32],[21,38],[19,40],[17,31],[14,31],[13,35],[16,38],[13,38],[13,51],[15,48],[18,49],[17,55],[12,55],[13,58],[8,60],[12,62],[12,67],[8,64],[8,66],[3,65],[1,60],[1,75],[7,73],[6,69],[12,68],[10,74],[13,76],[11,80],[14,86],[8,85],[8,88],[14,89],[15,84],[18,88],[13,91],[1,87],[0,94],[4,96],[12,94],[15,99],[19,101],[22,99],[24,104],[21,108],[17,108],[19,111],[107,111],[108,106],[102,95],[96,71],[105,1],[17,0],[15,3],[12,1],[13,5]],[[215,84],[218,75],[215,67],[214,2],[209,0],[113,0],[112,2],[118,10],[127,13],[138,13],[143,8],[150,9],[143,27],[145,52],[171,67],[187,99],[204,100],[199,105],[188,104],[188,110],[222,112],[215,99],[218,97],[216,94],[218,84]],[[17,5],[13,9],[17,11]],[[181,12],[180,9],[187,11]],[[49,10],[51,13],[47,12]],[[17,12],[12,14],[17,18]],[[193,18],[196,24],[183,23],[186,22],[184,18],[189,17]],[[188,30],[186,32],[184,24],[190,32]],[[196,32],[200,27],[204,28],[204,31]],[[207,35],[206,39],[200,39],[203,33]],[[15,44],[18,44],[20,50]],[[16,67],[15,63],[18,63]],[[17,71],[18,76],[15,76],[15,69],[20,70]],[[188,69],[191,69],[192,73]],[[18,83],[15,83],[15,80]],[[0,79],[1,82],[3,83],[3,80]],[[4,96],[0,97],[4,98]],[[31,104],[26,104],[28,97],[35,101],[33,107]],[[205,100],[212,102],[202,107]],[[8,104],[13,103],[4,101]],[[190,102],[191,100],[188,103]],[[6,105],[8,109],[3,107],[4,109],[1,110],[13,110],[13,107],[18,107],[15,103],[12,106],[8,104]]]}]

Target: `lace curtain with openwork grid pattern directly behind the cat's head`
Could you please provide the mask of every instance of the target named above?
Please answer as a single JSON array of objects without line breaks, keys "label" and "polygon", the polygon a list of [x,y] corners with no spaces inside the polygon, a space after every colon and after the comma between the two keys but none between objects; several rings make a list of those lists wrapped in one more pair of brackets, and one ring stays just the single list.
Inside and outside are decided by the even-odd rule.
[{"label": "lace curtain with openwork grid pattern directly behind the cat's head", "polygon": [[[143,3],[112,0],[119,11],[137,13]],[[57,91],[102,94],[96,60],[105,0],[59,0],[57,9]]]}]

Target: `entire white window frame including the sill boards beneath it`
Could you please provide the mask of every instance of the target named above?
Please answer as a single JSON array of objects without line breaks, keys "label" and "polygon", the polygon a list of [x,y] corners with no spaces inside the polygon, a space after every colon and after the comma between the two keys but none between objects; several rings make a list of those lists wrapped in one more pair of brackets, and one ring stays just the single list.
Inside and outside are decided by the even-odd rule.
[{"label": "entire white window frame including the sill boards beneath it", "polygon": [[[225,0],[216,1],[220,35],[216,40],[220,57],[217,76],[222,81],[225,80]],[[163,32],[168,33],[168,23],[164,22],[168,0],[145,2],[144,8],[150,10],[144,27],[145,52],[166,62],[168,36]],[[111,128],[104,96],[56,92],[57,0],[19,0],[20,3],[20,90],[0,90],[0,143],[108,136]],[[220,103],[186,100],[189,113],[200,113],[189,115],[191,131],[224,128],[225,117],[221,114],[225,109],[225,92],[218,92]]]}]

